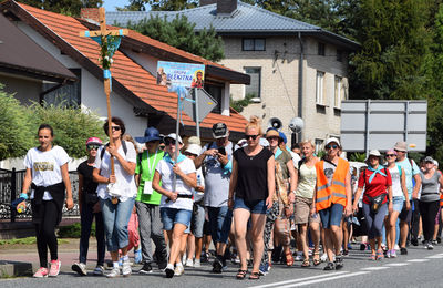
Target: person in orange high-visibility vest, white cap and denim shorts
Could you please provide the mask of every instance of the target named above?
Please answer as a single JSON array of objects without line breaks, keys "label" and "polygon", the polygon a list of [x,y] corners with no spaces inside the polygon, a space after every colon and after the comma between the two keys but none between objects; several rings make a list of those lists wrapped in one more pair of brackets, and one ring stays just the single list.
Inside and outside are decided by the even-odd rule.
[{"label": "person in orange high-visibility vest, white cap and denim shorts", "polygon": [[[312,198],[311,214],[320,214],[324,229],[324,240],[329,263],[324,270],[341,269],[343,258],[341,244],[343,232],[340,228],[341,217],[352,214],[352,191],[349,162],[340,158],[340,141],[331,137],[326,141],[327,155],[316,163],[317,184]],[[336,254],[336,259],[333,255]]]}]

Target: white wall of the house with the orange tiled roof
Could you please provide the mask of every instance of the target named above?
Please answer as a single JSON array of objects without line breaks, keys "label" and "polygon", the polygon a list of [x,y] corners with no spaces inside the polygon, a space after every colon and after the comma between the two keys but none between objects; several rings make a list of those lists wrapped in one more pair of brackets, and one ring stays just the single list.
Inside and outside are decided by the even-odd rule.
[{"label": "white wall of the house with the orange tiled roof", "polygon": [[[82,90],[81,90],[81,103],[82,109],[85,111],[93,111],[97,113],[103,120],[107,116],[106,110],[106,96],[103,90],[103,82],[92,75],[87,70],[80,66],[79,63],[73,61],[69,55],[62,54],[60,49],[54,44],[39,34],[29,25],[19,22],[18,27],[32,40],[35,41],[40,47],[51,53],[56,60],[59,60],[68,69],[81,69],[82,70]],[[112,92],[111,93],[111,113],[114,116],[123,119],[126,125],[126,132],[133,136],[141,136],[147,126],[147,120],[145,117],[136,117],[133,112],[133,105],[125,100],[125,97]]]}]

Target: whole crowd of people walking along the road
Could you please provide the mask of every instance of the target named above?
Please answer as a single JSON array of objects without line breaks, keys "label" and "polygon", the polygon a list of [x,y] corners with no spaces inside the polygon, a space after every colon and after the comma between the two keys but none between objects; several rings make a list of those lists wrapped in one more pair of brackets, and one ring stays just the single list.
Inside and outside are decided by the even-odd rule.
[{"label": "whole crowd of people walking along the road", "polygon": [[86,140],[79,191],[71,188],[70,158],[53,145],[50,125],[39,127],[40,145],[24,158],[20,197],[31,199],[40,258],[34,277],[60,271],[55,228],[63,204],[73,207],[73,193],[79,195],[81,239],[72,270],[80,276],[87,275],[94,218],[97,263],[92,272],[109,278],[134,272],[131,250],[142,266],[138,274],[156,266],[173,278],[212,258],[212,272],[225,272],[231,260],[239,266],[237,279],[255,280],[270,272],[272,263],[290,267],[300,260],[301,268],[326,263],[324,270],[341,269],[354,237],[361,237],[360,249],[369,249],[374,261],[406,255],[408,243],[416,246],[422,239],[433,249],[440,240],[442,173],[431,156],[420,165],[408,158],[405,142],[384,155],[370,151],[367,167],[359,171],[342,157],[338,138],[324,142],[320,158],[311,141],[291,150],[282,132],[262,131],[254,116],[236,144],[225,123],[213,126],[213,140],[203,146],[195,136],[185,145],[179,135],[162,135],[155,127],[134,141],[119,117],[103,128],[112,144],[93,135]]}]

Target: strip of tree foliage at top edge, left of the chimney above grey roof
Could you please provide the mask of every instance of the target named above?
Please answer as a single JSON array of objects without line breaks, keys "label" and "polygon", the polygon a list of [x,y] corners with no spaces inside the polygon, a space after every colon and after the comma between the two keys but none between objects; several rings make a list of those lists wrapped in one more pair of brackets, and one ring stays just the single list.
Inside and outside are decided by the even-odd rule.
[{"label": "strip of tree foliage at top edge, left of the chimney above grey roof", "polygon": [[196,8],[198,0],[130,0],[130,4],[119,10],[145,11],[146,4],[153,11],[179,11],[183,9]]}]

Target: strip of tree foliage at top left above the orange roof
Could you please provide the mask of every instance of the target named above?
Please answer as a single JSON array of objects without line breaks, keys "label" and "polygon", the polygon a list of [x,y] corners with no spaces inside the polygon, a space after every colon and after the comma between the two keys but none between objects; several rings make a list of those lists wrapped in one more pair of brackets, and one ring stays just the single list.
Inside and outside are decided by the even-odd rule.
[{"label": "strip of tree foliage at top left above the orange roof", "polygon": [[82,8],[97,8],[103,4],[103,0],[20,0],[20,2],[73,17],[79,17]]}]

